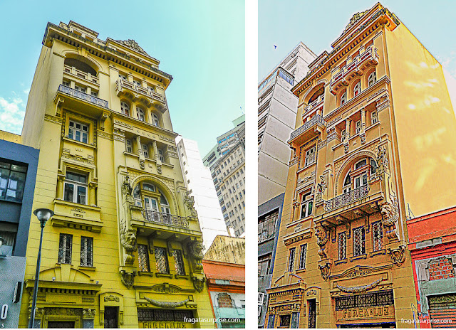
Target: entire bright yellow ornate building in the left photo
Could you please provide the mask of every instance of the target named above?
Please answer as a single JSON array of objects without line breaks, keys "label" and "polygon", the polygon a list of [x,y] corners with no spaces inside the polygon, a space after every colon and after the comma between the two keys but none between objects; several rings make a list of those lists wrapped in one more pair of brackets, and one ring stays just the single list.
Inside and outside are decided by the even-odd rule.
[{"label": "entire bright yellow ornate building in the left photo", "polygon": [[[213,327],[202,234],[182,179],[165,90],[133,40],[48,23],[22,143],[40,149],[33,209],[44,228],[36,326]],[[19,326],[30,316],[32,215]]]}]

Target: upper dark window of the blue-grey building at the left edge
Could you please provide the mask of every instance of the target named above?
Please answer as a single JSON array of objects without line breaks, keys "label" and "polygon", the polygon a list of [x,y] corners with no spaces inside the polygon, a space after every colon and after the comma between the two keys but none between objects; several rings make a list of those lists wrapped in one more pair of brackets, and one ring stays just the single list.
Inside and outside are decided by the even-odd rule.
[{"label": "upper dark window of the blue-grey building at the left edge", "polygon": [[22,201],[26,173],[26,165],[15,165],[0,161],[0,199]]}]

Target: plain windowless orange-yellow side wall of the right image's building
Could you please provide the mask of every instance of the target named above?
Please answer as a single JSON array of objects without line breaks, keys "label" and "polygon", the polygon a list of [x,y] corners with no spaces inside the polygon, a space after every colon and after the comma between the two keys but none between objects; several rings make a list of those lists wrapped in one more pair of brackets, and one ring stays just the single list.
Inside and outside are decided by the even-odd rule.
[{"label": "plain windowless orange-yellow side wall of the right image's building", "polygon": [[415,216],[454,206],[456,120],[442,65],[404,24],[386,46],[405,202]]}]

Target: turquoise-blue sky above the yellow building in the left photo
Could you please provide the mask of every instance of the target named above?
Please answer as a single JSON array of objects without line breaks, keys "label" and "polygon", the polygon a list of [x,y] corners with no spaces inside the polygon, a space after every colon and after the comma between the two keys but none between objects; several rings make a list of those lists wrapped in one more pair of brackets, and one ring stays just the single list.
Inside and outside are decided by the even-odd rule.
[{"label": "turquoise-blue sky above the yellow building in the left photo", "polygon": [[243,0],[0,1],[0,12],[2,130],[21,134],[48,21],[76,21],[102,40],[135,39],[160,60],[174,78],[166,92],[173,129],[196,140],[202,156],[242,115]]}]

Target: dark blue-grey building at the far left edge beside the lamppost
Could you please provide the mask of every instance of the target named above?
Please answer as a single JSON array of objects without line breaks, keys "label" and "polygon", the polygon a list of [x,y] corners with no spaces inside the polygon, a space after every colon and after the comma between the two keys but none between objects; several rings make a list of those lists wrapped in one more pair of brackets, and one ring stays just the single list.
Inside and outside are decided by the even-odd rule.
[{"label": "dark blue-grey building at the far left edge beside the lamppost", "polygon": [[39,150],[0,131],[0,328],[17,328]]}]

